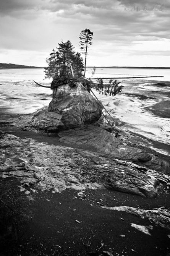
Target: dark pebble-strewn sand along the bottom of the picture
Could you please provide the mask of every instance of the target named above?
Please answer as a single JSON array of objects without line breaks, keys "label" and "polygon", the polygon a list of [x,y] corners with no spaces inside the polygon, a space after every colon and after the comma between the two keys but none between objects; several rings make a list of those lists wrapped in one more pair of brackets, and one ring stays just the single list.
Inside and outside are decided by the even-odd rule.
[{"label": "dark pebble-strewn sand along the bottom of the picture", "polygon": [[[75,190],[52,194],[50,191],[32,193],[30,189],[31,200],[27,201],[26,195],[17,190],[15,182],[15,179],[0,180],[0,191],[3,192],[4,188],[8,191],[15,185],[15,193],[22,196],[24,202],[21,210],[31,219],[20,223],[19,243],[16,245],[9,240],[2,250],[5,256],[99,256],[103,251],[110,251],[113,256],[167,256],[170,252],[170,230],[126,212],[102,208],[102,205],[144,209],[170,207],[169,194],[148,199],[97,189],[86,190],[86,197],[80,198],[79,191]],[[136,230],[131,223],[151,225],[151,235]]]}]

